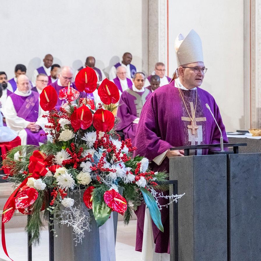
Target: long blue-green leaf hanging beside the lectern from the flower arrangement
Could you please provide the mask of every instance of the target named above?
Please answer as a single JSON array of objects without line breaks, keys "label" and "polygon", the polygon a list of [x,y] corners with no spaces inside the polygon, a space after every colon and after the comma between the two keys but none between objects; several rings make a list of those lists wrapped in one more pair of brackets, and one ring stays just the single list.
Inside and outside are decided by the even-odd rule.
[{"label": "long blue-green leaf hanging beside the lectern from the flower arrangement", "polygon": [[157,228],[161,230],[161,232],[163,232],[163,225],[161,222],[161,212],[158,209],[158,205],[155,198],[151,195],[149,191],[147,191],[146,188],[140,188],[140,190],[142,192],[144,201],[149,208],[149,213],[151,215],[153,222],[155,223]]}]

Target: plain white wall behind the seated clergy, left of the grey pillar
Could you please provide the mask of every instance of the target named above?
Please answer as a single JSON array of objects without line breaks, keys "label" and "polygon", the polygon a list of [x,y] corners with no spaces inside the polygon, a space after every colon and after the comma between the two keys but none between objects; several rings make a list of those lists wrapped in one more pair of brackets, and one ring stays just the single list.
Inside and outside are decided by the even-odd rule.
[{"label": "plain white wall behind the seated clergy, left of the grey pillar", "polygon": [[142,32],[140,0],[24,0],[2,1],[1,6],[0,71],[6,71],[8,78],[19,63],[31,77],[47,53],[54,56],[54,63],[75,70],[87,56],[94,56],[96,66],[105,72],[124,52],[132,53],[132,63],[140,70],[142,57],[147,61],[142,53],[147,28]]}]

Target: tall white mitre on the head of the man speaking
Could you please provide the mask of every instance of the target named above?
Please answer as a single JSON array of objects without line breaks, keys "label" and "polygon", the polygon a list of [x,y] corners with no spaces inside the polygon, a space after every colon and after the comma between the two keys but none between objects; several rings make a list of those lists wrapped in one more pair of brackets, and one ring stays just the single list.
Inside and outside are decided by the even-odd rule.
[{"label": "tall white mitre on the head of the man speaking", "polygon": [[199,35],[192,29],[188,35],[180,33],[175,40],[177,66],[203,61],[202,43]]}]

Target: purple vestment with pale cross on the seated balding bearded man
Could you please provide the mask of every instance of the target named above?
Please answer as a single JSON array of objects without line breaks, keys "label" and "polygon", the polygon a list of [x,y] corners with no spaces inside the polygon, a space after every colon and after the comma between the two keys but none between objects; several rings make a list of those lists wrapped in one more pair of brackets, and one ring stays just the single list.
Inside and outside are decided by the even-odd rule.
[{"label": "purple vestment with pale cross on the seated balding bearded man", "polygon": [[[25,119],[26,121],[36,122],[38,119],[39,111],[39,94],[32,92],[31,95],[23,97],[17,94],[10,95],[17,116]],[[43,130],[39,132],[31,132],[29,129],[25,128],[27,132],[27,145],[39,146],[39,142],[44,142],[47,138],[46,136],[40,135],[45,134]]]}]

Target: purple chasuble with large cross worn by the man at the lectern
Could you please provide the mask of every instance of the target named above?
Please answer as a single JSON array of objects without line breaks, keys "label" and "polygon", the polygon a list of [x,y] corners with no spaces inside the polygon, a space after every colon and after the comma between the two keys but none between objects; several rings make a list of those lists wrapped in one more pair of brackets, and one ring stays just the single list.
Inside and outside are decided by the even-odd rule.
[{"label": "purple chasuble with large cross worn by the man at the lectern", "polygon": [[[191,116],[195,109],[196,90],[182,90],[186,106]],[[203,89],[197,87],[197,106],[194,125],[197,126],[196,134],[192,134],[191,120],[184,106],[179,89],[174,87],[174,81],[156,89],[146,101],[140,121],[137,126],[134,156],[145,156],[151,161],[153,171],[169,172],[169,159],[166,157],[161,165],[152,161],[171,147],[191,144],[218,144],[220,132],[205,104],[208,103],[223,133],[224,142],[228,143],[225,126],[222,122],[218,106],[214,98]],[[207,154],[207,150],[198,150],[197,155]],[[194,152],[195,153],[195,152]],[[182,192],[182,191],[180,191]],[[159,199],[161,205],[169,202],[168,199]],[[142,251],[145,205],[142,204],[136,211],[137,235],[136,251]],[[158,230],[152,221],[156,253],[169,253],[169,209],[161,210],[161,219],[164,233]]]}]

